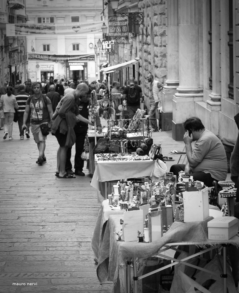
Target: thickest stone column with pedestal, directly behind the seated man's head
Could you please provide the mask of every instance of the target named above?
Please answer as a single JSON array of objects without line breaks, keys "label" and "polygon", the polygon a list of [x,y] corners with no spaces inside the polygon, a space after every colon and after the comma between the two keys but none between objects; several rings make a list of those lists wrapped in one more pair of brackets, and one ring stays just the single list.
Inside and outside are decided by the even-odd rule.
[{"label": "thickest stone column with pedestal, directly behind the seated man's head", "polygon": [[172,137],[183,139],[182,122],[203,101],[202,6],[200,0],[178,1],[179,87],[173,96]]}]

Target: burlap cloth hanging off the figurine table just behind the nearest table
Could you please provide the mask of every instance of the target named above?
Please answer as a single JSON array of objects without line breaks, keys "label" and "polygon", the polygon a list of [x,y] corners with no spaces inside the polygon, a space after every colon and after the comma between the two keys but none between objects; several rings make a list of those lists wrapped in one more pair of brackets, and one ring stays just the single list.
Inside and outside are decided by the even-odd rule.
[{"label": "burlap cloth hanging off the figurine table just behind the nearest table", "polygon": [[98,217],[96,220],[96,226],[93,232],[93,236],[91,238],[91,247],[93,249],[93,252],[97,259],[99,258],[99,251],[101,250],[101,244],[102,240],[104,237],[104,231],[106,228],[106,223],[108,221],[108,218],[110,215],[122,215],[121,217],[123,218],[123,213],[124,210],[112,210],[111,207],[108,204],[108,200],[104,200],[101,204]]}]

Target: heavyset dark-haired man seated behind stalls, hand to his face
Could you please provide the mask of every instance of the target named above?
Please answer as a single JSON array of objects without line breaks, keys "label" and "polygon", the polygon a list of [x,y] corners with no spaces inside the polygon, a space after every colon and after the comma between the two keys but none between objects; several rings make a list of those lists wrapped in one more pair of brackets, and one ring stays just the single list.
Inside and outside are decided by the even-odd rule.
[{"label": "heavyset dark-haired man seated behind stalls, hand to his face", "polygon": [[[183,122],[185,134],[186,164],[175,164],[170,172],[177,175],[184,171],[193,176],[193,180],[204,182],[208,187],[213,181],[225,180],[227,177],[227,157],[220,139],[211,131],[205,129],[198,117],[191,117]],[[195,146],[192,148],[192,141]]]}]

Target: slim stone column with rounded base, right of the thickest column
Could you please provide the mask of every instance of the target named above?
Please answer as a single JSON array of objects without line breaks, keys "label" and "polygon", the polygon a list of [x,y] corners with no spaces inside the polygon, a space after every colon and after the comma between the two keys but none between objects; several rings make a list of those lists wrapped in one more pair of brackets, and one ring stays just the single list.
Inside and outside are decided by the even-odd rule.
[{"label": "slim stone column with rounded base, right of the thickest column", "polygon": [[219,0],[212,0],[212,83],[213,89],[207,100],[210,111],[221,111],[220,95],[220,11]]}]

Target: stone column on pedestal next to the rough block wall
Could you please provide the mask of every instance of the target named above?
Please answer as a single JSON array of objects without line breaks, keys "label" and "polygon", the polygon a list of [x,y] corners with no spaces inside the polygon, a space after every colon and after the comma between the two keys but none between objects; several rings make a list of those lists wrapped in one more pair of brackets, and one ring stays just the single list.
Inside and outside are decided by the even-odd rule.
[{"label": "stone column on pedestal next to the rough block wall", "polygon": [[178,0],[166,1],[167,16],[167,80],[162,99],[162,130],[172,129],[173,95],[179,85],[178,76]]}]

